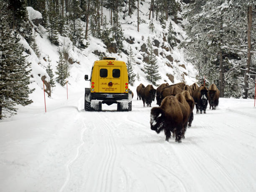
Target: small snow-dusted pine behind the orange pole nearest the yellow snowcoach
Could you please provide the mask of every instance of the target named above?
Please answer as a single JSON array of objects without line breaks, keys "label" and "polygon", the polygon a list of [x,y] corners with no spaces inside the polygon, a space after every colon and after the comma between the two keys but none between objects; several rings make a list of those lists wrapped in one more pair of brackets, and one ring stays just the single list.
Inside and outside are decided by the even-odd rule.
[{"label": "small snow-dusted pine behind the orange pole nearest the yellow snowcoach", "polygon": [[61,86],[64,86],[67,78],[69,77],[69,65],[66,60],[64,60],[63,54],[60,53],[59,55],[59,61],[57,61],[57,72],[56,75],[56,81],[61,84]]}]

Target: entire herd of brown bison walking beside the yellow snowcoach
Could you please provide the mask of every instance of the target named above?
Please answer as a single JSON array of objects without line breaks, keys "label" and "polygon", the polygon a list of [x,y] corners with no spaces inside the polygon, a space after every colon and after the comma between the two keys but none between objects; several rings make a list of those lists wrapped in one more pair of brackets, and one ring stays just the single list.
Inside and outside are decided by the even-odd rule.
[{"label": "entire herd of brown bison walking beside the yellow snowcoach", "polygon": [[181,139],[185,138],[187,126],[191,127],[194,107],[197,113],[199,110],[201,114],[202,111],[206,113],[209,102],[210,109],[215,110],[220,97],[220,91],[215,84],[207,89],[204,85],[199,87],[196,83],[186,85],[183,82],[174,85],[163,83],[156,89],[153,85],[145,87],[141,83],[136,92],[137,100],[143,101],[143,107],[145,102],[147,107],[151,107],[156,97],[156,104],[159,107],[151,109],[151,130],[157,133],[164,130],[166,141],[169,141],[172,132],[176,142],[181,142]]}]

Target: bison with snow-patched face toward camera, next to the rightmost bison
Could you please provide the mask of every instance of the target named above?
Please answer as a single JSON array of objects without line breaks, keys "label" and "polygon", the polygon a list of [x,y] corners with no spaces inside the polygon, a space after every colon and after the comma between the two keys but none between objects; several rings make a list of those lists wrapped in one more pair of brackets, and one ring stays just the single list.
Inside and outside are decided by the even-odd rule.
[{"label": "bison with snow-patched face toward camera, next to the rightmost bison", "polygon": [[204,113],[206,113],[207,108],[207,87],[201,85],[197,90],[193,92],[193,99],[195,101],[195,106],[197,109],[197,113],[199,113],[198,110],[200,110],[200,113],[202,113],[202,110]]}]

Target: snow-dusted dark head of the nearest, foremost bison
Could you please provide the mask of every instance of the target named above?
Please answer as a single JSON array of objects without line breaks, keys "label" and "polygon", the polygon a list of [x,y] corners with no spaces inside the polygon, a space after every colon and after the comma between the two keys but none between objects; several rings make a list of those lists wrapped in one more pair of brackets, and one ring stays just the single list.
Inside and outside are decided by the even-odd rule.
[{"label": "snow-dusted dark head of the nearest, foremost bison", "polygon": [[157,133],[161,132],[164,127],[164,113],[160,107],[153,107],[150,115],[150,128]]}]

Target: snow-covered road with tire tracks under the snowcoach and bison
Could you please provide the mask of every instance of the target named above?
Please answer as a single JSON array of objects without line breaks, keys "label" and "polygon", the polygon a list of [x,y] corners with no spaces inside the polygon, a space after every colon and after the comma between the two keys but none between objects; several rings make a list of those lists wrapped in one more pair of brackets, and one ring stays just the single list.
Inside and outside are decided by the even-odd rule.
[{"label": "snow-covered road with tire tracks under the snowcoach and bison", "polygon": [[1,191],[256,191],[253,100],[221,98],[217,110],[194,112],[176,143],[150,129],[151,107],[135,97],[131,112],[85,112],[83,93],[71,98],[0,122]]}]

